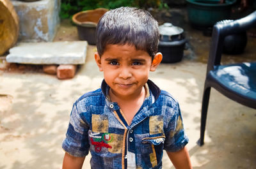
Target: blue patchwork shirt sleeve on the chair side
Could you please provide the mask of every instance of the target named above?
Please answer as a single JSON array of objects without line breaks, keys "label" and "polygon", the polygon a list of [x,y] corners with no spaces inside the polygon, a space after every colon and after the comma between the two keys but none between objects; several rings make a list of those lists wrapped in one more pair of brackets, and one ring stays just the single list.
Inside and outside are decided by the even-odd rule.
[{"label": "blue patchwork shirt sleeve on the chair side", "polygon": [[188,136],[184,131],[179,104],[177,103],[172,110],[173,116],[168,122],[167,132],[165,133],[164,150],[177,152],[188,143]]}]

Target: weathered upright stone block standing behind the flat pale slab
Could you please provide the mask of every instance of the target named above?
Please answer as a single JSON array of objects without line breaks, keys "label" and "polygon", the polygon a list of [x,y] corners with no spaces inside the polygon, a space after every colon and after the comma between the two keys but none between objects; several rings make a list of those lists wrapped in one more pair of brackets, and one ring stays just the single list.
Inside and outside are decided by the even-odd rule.
[{"label": "weathered upright stone block standing behind the flat pale slab", "polygon": [[19,15],[19,41],[52,41],[60,23],[61,0],[12,0]]}]

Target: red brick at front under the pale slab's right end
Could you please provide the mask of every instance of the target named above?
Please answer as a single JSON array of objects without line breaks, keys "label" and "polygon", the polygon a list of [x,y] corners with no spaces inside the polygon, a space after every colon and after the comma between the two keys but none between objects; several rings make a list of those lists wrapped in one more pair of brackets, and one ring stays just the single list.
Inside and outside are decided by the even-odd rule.
[{"label": "red brick at front under the pale slab's right end", "polygon": [[61,64],[57,68],[57,77],[60,79],[73,78],[76,74],[76,65]]}]

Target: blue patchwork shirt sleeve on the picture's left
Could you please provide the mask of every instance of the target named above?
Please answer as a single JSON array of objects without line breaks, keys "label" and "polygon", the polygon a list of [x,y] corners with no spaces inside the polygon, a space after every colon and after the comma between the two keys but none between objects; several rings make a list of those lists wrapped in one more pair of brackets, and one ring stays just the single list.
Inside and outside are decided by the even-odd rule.
[{"label": "blue patchwork shirt sleeve on the picture's left", "polygon": [[77,104],[74,103],[70,114],[66,138],[62,143],[64,151],[75,157],[86,156],[90,147],[88,129],[89,125],[81,119],[81,114],[77,110]]}]

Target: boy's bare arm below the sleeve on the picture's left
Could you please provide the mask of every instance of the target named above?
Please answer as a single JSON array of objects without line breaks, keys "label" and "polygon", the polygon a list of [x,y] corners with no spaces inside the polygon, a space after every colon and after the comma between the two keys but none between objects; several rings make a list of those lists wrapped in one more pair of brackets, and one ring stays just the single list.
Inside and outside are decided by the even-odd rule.
[{"label": "boy's bare arm below the sleeve on the picture's left", "polygon": [[84,163],[84,158],[85,157],[77,158],[66,152],[63,159],[62,169],[81,169]]}]

